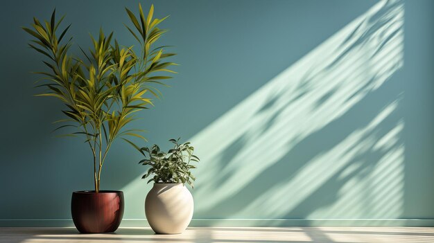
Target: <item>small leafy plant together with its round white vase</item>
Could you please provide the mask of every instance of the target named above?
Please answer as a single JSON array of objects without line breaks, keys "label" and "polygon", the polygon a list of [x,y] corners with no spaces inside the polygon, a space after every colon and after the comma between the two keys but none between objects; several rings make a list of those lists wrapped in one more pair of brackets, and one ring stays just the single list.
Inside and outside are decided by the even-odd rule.
[{"label": "small leafy plant together with its round white vase", "polygon": [[177,140],[169,140],[174,147],[168,152],[162,152],[158,145],[142,147],[139,151],[145,159],[139,163],[149,165],[148,172],[142,179],[154,182],[153,188],[145,199],[146,219],[155,233],[182,233],[193,217],[193,197],[186,188],[188,183],[193,188],[196,179],[190,170],[196,168],[191,161],[198,162],[198,156],[193,154],[194,147]]}]

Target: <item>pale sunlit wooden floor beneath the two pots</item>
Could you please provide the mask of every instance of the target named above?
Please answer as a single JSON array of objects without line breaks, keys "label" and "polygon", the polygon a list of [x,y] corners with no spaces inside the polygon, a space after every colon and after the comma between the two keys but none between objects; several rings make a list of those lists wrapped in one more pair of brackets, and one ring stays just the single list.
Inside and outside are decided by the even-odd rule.
[{"label": "pale sunlit wooden floor beneath the two pots", "polygon": [[418,227],[192,227],[180,235],[150,228],[80,234],[75,228],[0,228],[0,242],[434,242],[434,228]]}]

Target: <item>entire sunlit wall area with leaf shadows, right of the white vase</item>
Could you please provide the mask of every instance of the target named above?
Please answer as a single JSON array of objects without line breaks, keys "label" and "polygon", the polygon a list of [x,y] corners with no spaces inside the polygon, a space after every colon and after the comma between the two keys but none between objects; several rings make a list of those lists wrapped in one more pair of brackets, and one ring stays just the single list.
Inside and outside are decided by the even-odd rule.
[{"label": "entire sunlit wall area with leaf shadows, right of the white vase", "polygon": [[403,3],[381,1],[191,138],[195,217],[398,218]]}]

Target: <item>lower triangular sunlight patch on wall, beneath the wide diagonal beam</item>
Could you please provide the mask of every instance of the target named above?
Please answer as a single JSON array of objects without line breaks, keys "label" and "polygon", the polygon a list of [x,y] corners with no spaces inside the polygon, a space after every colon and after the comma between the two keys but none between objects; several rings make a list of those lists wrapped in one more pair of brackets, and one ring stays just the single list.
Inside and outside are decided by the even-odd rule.
[{"label": "lower triangular sunlight patch on wall, beneath the wide diagonal beam", "polygon": [[[280,217],[282,212],[293,210],[313,191],[330,181],[343,182],[342,188],[337,192],[338,197],[329,205],[325,204],[316,210],[314,208],[309,218],[397,217],[403,206],[403,145],[392,144],[382,152],[383,156],[376,164],[366,166],[361,156],[370,150],[382,148],[376,146],[378,138],[373,132],[397,106],[396,101],[385,107],[369,125],[352,132],[331,150],[313,158],[295,177],[273,186],[234,217],[255,210],[266,217]],[[395,131],[391,132],[397,136],[399,133],[396,130],[401,132],[402,129],[401,121]],[[389,146],[390,143],[387,144]],[[384,208],[387,210],[381,212]]]}]

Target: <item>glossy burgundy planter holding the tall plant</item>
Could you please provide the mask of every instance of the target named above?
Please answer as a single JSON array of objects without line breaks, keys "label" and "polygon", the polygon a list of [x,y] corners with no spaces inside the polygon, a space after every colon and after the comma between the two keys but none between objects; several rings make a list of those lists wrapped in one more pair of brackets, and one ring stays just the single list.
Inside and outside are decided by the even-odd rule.
[{"label": "glossy burgundy planter holding the tall plant", "polygon": [[123,217],[123,192],[72,192],[71,214],[76,228],[81,233],[114,232]]}]

